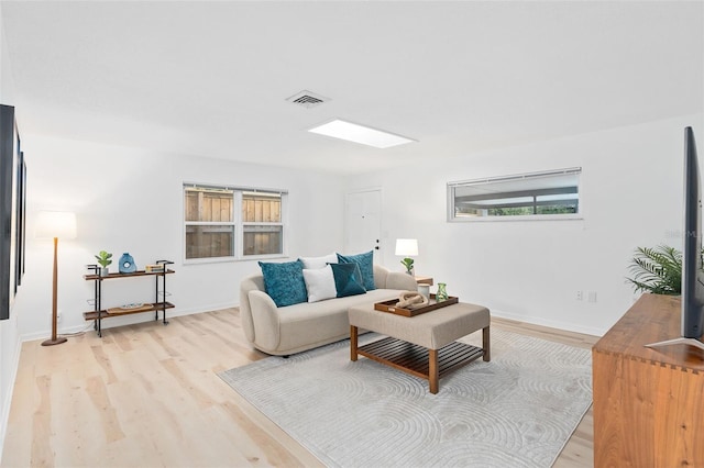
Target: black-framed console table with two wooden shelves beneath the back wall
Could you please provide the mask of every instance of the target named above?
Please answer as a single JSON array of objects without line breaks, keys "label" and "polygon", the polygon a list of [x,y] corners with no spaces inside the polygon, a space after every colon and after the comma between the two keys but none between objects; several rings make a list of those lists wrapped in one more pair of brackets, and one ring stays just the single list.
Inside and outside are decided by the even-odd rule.
[{"label": "black-framed console table with two wooden shelves beneath the back wall", "polygon": [[[170,302],[167,302],[165,299],[160,301],[160,294],[166,296],[166,276],[173,275],[174,270],[168,269],[167,265],[173,265],[173,261],[169,260],[158,260],[157,264],[164,265],[164,271],[145,271],[138,270],[129,274],[109,274],[106,276],[100,276],[97,272],[84,275],[84,279],[86,281],[94,281],[94,304],[95,309],[92,311],[84,312],[84,319],[86,321],[94,321],[94,328],[98,333],[98,336],[102,336],[102,321],[105,319],[111,319],[113,316],[122,316],[122,315],[132,315],[135,313],[144,313],[144,312],[154,312],[154,320],[158,320],[158,312],[162,311],[164,325],[167,325],[166,321],[166,309],[174,309],[175,305]],[[97,271],[98,267],[96,265],[89,265],[89,269]],[[119,313],[110,312],[110,309],[102,308],[102,281],[107,281],[110,279],[125,279],[125,278],[138,278],[138,277],[154,277],[155,279],[155,288],[154,288],[154,302],[145,303],[143,307],[134,308],[134,310],[122,309]],[[161,288],[160,288],[160,278]]]}]

